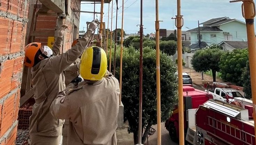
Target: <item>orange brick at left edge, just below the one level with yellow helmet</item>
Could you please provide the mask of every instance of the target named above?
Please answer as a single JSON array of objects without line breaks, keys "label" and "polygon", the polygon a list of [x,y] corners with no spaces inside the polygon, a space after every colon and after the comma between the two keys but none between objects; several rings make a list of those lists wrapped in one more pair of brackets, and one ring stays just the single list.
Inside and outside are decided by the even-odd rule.
[{"label": "orange brick at left edge, just below the one level with yellow helmet", "polygon": [[6,133],[6,131],[11,127],[14,122],[15,95],[16,94],[10,96],[3,102],[0,137],[2,137]]}]

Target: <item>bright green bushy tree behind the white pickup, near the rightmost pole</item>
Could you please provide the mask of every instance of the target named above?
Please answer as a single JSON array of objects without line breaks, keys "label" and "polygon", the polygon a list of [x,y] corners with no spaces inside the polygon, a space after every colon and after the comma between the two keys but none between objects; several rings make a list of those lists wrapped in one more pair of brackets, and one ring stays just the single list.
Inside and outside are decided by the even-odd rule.
[{"label": "bright green bushy tree behind the white pickup, near the rightmost pole", "polygon": [[223,81],[235,83],[242,86],[243,80],[241,75],[248,61],[247,49],[235,49],[231,52],[227,51],[221,56],[219,68]]}]

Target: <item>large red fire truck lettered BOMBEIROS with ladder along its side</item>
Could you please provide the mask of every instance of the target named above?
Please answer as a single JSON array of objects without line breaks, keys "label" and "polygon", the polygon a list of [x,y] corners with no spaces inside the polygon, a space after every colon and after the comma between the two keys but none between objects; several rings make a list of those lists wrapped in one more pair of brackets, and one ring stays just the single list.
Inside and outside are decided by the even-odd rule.
[{"label": "large red fire truck lettered BOMBEIROS with ladder along its side", "polygon": [[[211,94],[183,86],[185,141],[192,145],[255,145],[253,101],[241,97],[226,103]],[[166,121],[178,142],[178,110]]]}]

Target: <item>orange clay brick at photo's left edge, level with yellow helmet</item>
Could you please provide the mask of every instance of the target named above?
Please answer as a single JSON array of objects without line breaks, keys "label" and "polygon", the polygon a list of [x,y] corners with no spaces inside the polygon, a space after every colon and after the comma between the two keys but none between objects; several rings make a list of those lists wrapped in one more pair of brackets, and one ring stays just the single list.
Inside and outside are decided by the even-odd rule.
[{"label": "orange clay brick at photo's left edge, level with yellow helmet", "polygon": [[0,99],[7,95],[11,90],[11,76],[13,75],[14,59],[2,63],[3,70],[0,74]]}]

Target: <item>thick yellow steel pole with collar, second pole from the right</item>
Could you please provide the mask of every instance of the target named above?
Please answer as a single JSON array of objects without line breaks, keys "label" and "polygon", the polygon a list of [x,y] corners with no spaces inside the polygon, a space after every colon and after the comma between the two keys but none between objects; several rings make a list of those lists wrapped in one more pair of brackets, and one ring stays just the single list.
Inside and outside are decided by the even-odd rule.
[{"label": "thick yellow steel pole with collar, second pole from the right", "polygon": [[178,110],[179,110],[179,145],[184,145],[184,112],[183,112],[183,80],[182,80],[182,39],[181,28],[183,18],[181,15],[181,0],[177,0],[177,49],[178,49]]}]

